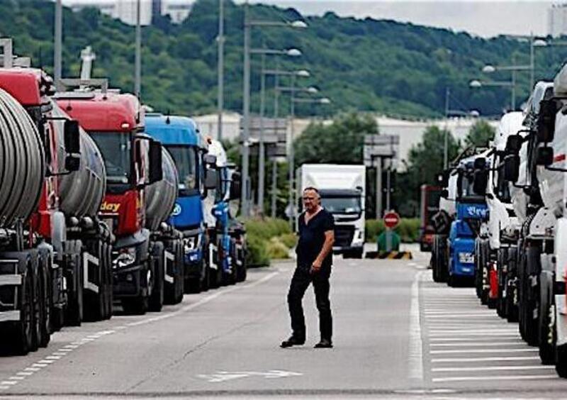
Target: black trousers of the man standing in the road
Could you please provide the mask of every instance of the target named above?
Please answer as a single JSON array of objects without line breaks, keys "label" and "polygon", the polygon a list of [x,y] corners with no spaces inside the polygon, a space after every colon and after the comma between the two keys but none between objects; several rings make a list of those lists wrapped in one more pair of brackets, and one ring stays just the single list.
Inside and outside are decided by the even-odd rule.
[{"label": "black trousers of the man standing in the road", "polygon": [[331,340],[332,315],[329,300],[330,267],[311,274],[310,267],[298,266],[293,274],[288,292],[289,315],[291,316],[291,329],[293,336],[305,340],[305,317],[303,316],[302,300],[305,290],[313,283],[315,301],[319,310],[319,330],[321,339]]}]

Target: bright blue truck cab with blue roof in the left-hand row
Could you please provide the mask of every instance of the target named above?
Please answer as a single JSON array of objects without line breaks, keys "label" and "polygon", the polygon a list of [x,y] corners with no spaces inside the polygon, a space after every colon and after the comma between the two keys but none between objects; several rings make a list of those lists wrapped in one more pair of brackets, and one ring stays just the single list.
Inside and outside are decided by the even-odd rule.
[{"label": "bright blue truck cab with blue roof in the left-hand row", "polygon": [[207,142],[191,118],[147,113],[145,122],[146,132],[167,148],[179,172],[179,192],[170,223],[183,234],[185,292],[206,290],[209,279],[203,197]]}]

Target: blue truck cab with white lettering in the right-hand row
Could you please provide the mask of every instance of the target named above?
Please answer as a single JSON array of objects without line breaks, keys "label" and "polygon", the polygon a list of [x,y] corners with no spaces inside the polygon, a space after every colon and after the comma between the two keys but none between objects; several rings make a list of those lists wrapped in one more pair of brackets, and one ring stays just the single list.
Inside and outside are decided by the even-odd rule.
[{"label": "blue truck cab with white lettering in the right-hand row", "polygon": [[474,160],[477,156],[461,160],[451,175],[456,184],[456,217],[449,230],[449,275],[447,282],[474,279],[475,238],[488,213],[485,196],[474,191]]}]

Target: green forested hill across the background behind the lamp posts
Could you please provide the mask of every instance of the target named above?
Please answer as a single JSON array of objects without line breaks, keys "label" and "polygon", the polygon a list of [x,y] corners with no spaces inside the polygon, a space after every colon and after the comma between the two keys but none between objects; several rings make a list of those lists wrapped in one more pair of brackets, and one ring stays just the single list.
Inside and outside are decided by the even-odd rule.
[{"label": "green forested hill across the background behind the lamp posts", "polygon": [[[143,28],[142,97],[161,111],[196,114],[215,110],[216,104],[216,0],[200,0],[181,25],[159,18]],[[226,6],[225,104],[242,110],[242,6]],[[253,46],[303,51],[297,60],[280,59],[286,69],[308,68],[330,106],[298,107],[300,114],[335,113],[356,109],[406,116],[440,116],[445,89],[451,109],[478,109],[498,114],[510,101],[505,89],[470,89],[481,77],[485,62],[509,65],[512,56],[529,62],[529,44],[504,37],[485,40],[467,33],[415,26],[395,21],[339,18],[334,13],[303,17],[293,9],[254,5],[254,19],[304,19],[308,29],[254,28]],[[52,71],[54,4],[40,0],[0,0],[0,33],[15,40],[16,52],[31,55],[36,66]],[[110,77],[114,87],[133,90],[134,28],[103,16],[94,9],[64,11],[64,75],[77,77],[79,53],[86,45],[96,52],[94,77]],[[554,76],[567,50],[537,49],[536,77]],[[253,57],[252,109],[258,109],[259,57]],[[275,60],[269,57],[269,67]],[[518,74],[519,102],[527,96],[529,74]],[[509,80],[509,73],[488,79]],[[301,78],[303,79],[303,78]],[[273,82],[268,81],[268,87]],[[271,96],[269,89],[269,96]],[[286,109],[283,96],[281,107]],[[267,113],[271,113],[271,101]]]}]

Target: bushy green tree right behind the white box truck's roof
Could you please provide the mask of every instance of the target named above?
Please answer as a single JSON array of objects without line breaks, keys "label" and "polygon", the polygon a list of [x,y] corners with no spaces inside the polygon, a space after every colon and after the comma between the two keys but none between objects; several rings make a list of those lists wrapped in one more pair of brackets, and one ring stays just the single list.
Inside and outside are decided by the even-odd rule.
[{"label": "bushy green tree right behind the white box truck's roof", "polygon": [[305,163],[361,164],[364,135],[378,133],[369,115],[339,115],[330,125],[311,123],[295,140],[296,165]]}]

